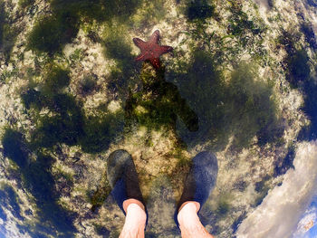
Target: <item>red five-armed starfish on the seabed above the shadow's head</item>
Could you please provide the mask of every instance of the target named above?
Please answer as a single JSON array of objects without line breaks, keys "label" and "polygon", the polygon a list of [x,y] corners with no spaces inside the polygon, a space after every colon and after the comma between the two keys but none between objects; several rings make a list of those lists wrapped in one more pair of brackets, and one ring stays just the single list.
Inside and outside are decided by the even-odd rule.
[{"label": "red five-armed starfish on the seabed above the shadow's head", "polygon": [[152,33],[148,42],[143,42],[139,38],[133,38],[133,43],[135,43],[141,50],[141,53],[135,61],[149,60],[156,69],[159,69],[160,67],[159,56],[163,53],[173,51],[173,47],[171,46],[159,45],[159,30]]}]

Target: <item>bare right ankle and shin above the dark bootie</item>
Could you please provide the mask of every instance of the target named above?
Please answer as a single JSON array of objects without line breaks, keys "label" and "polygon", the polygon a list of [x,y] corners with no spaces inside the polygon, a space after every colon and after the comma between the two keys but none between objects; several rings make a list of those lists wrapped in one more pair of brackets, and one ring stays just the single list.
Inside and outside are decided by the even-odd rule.
[{"label": "bare right ankle and shin above the dark bootie", "polygon": [[200,223],[197,212],[200,205],[195,201],[187,201],[180,206],[178,223],[182,238],[213,238]]}]

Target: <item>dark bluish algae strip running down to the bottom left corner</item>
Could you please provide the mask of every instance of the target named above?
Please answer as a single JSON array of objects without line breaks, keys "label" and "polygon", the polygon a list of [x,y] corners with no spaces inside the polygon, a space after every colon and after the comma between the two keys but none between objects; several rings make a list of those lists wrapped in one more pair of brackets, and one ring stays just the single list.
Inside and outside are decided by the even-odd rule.
[{"label": "dark bluish algae strip running down to the bottom left corner", "polygon": [[[38,208],[37,216],[40,222],[38,224],[20,225],[20,230],[22,232],[33,232],[33,237],[46,237],[45,233],[53,236],[59,233],[59,237],[73,237],[72,233],[75,232],[75,228],[72,220],[75,214],[64,210],[57,204],[59,195],[54,189],[54,178],[50,173],[53,158],[38,153],[36,160],[31,160],[29,153],[26,151],[28,145],[24,141],[23,135],[14,129],[5,130],[2,142],[5,156],[9,157],[19,167],[24,187],[34,196],[34,202]],[[11,190],[8,191],[7,193]],[[10,193],[8,199],[12,204],[13,201],[16,201],[16,198],[13,198],[12,191]],[[18,205],[13,205],[11,206],[18,212]],[[52,229],[52,226],[55,229]]]}]

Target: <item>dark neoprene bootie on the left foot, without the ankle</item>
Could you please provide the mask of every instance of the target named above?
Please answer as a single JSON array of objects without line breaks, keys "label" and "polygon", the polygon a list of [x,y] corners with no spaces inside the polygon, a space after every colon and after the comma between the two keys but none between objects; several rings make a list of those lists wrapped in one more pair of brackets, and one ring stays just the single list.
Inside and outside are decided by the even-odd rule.
[{"label": "dark neoprene bootie on the left foot, without the ankle", "polygon": [[[145,207],[139,189],[137,170],[132,157],[126,150],[119,149],[110,154],[107,159],[107,178],[112,187],[111,195],[123,214],[126,215],[123,202],[130,198],[139,200]],[[148,217],[147,209],[145,209],[145,212]]]}]

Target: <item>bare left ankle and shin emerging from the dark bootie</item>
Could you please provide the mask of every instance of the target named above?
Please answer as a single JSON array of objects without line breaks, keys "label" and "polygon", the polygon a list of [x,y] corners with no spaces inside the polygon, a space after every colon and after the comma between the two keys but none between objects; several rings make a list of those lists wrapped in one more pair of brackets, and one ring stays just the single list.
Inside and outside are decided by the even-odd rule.
[{"label": "bare left ankle and shin emerging from the dark bootie", "polygon": [[144,228],[147,221],[144,205],[139,200],[130,198],[123,202],[126,213],[125,223],[120,238],[144,238]]}]

